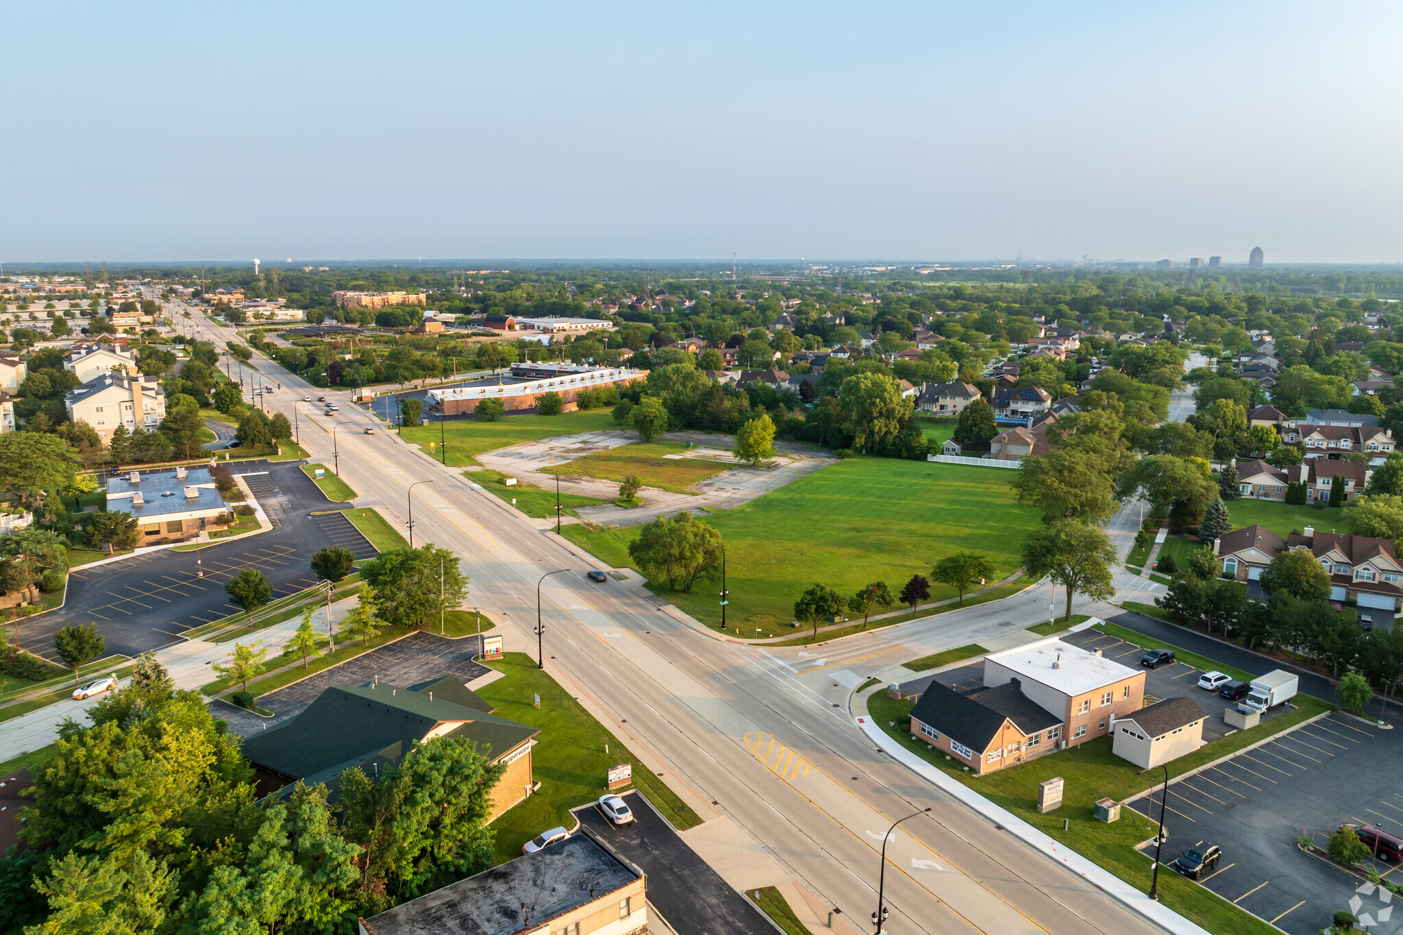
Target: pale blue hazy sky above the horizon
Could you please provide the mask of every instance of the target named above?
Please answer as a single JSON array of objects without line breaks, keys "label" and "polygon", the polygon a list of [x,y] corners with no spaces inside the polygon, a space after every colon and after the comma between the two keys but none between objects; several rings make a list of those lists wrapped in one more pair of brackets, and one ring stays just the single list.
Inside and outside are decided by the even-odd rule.
[{"label": "pale blue hazy sky above the horizon", "polygon": [[1403,261],[1396,3],[8,4],[0,262]]}]

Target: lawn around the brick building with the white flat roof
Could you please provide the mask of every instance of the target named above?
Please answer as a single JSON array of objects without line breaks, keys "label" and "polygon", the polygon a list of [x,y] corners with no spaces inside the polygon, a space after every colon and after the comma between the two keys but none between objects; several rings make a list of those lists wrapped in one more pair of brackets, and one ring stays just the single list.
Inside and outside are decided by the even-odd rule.
[{"label": "lawn around the brick building with the white flat roof", "polygon": [[[1226,671],[1223,666],[1216,666]],[[1169,764],[1172,777],[1200,767],[1218,757],[1257,743],[1264,737],[1285,730],[1317,714],[1329,711],[1329,705],[1309,695],[1298,695],[1301,707],[1289,714],[1239,730],[1215,743],[1204,744],[1197,753],[1180,757]],[[1111,737],[1097,737],[1069,750],[1045,754],[1021,765],[999,770],[985,777],[964,772],[961,764],[946,760],[946,754],[926,749],[926,743],[912,740],[909,733],[911,701],[894,701],[878,691],[867,699],[873,719],[902,746],[916,753],[927,763],[944,770],[996,805],[1013,812],[1040,831],[1056,838],[1101,865],[1127,883],[1149,890],[1152,864],[1135,851],[1135,845],[1153,837],[1148,819],[1129,809],[1121,809],[1120,821],[1106,824],[1094,817],[1094,803],[1101,798],[1124,802],[1131,795],[1155,785],[1155,778],[1163,775],[1139,775],[1135,765],[1111,753]],[[905,723],[904,723],[905,721]],[[895,725],[895,726],[892,726]],[[904,728],[906,730],[901,730]],[[1048,814],[1038,814],[1038,784],[1062,777],[1063,805]],[[1062,830],[1063,819],[1068,830]],[[1160,869],[1159,896],[1164,906],[1188,917],[1211,932],[1235,932],[1237,935],[1270,935],[1277,932],[1261,920],[1237,910],[1232,903],[1211,890],[1193,883],[1177,873]]]}]

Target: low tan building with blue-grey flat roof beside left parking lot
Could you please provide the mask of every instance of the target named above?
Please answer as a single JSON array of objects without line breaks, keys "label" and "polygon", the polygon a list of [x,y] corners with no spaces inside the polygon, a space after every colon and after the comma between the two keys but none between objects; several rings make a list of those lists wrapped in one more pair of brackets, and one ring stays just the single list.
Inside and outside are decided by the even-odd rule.
[{"label": "low tan building with blue-grey flat roof beside left parking lot", "polygon": [[136,517],[142,531],[137,545],[191,540],[233,516],[209,468],[132,471],[108,478],[107,509]]}]

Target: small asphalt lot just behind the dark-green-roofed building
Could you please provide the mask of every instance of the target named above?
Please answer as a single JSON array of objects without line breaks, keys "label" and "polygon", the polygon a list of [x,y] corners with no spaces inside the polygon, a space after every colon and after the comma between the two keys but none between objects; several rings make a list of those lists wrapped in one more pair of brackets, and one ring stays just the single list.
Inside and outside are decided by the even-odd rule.
[{"label": "small asphalt lot just behind the dark-green-roofed building", "polygon": [[[325,617],[320,621],[313,618],[313,625],[324,629]],[[410,688],[424,681],[438,681],[445,676],[455,676],[466,685],[491,671],[487,666],[473,662],[473,656],[477,655],[477,636],[448,639],[436,634],[414,632],[286,688],[260,695],[258,707],[272,711],[276,715],[274,718],[261,718],[226,701],[217,702],[215,715],[229,722],[231,733],[247,737],[257,730],[296,718],[323,691],[335,685],[368,685],[379,678],[390,685]]]}]

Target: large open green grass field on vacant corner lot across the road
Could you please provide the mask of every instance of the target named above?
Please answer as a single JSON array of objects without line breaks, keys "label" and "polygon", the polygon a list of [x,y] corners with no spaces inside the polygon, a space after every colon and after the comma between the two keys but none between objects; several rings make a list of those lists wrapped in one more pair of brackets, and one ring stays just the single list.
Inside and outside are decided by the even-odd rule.
[{"label": "large open green grass field on vacant corner lot across the road", "polygon": [[[934,561],[964,548],[989,557],[993,580],[1006,578],[1021,565],[1023,540],[1040,519],[1014,503],[1007,471],[856,457],[706,521],[727,547],[728,617],[746,636],[756,627],[773,636],[794,632],[794,601],[815,583],[852,594],[884,580],[897,593],[912,575],[929,576]],[[563,531],[605,564],[631,566],[629,542],[638,527]],[[697,620],[718,617],[709,583],[690,594],[669,592],[666,582],[652,587]],[[930,589],[932,600],[955,596],[944,585]]]}]

